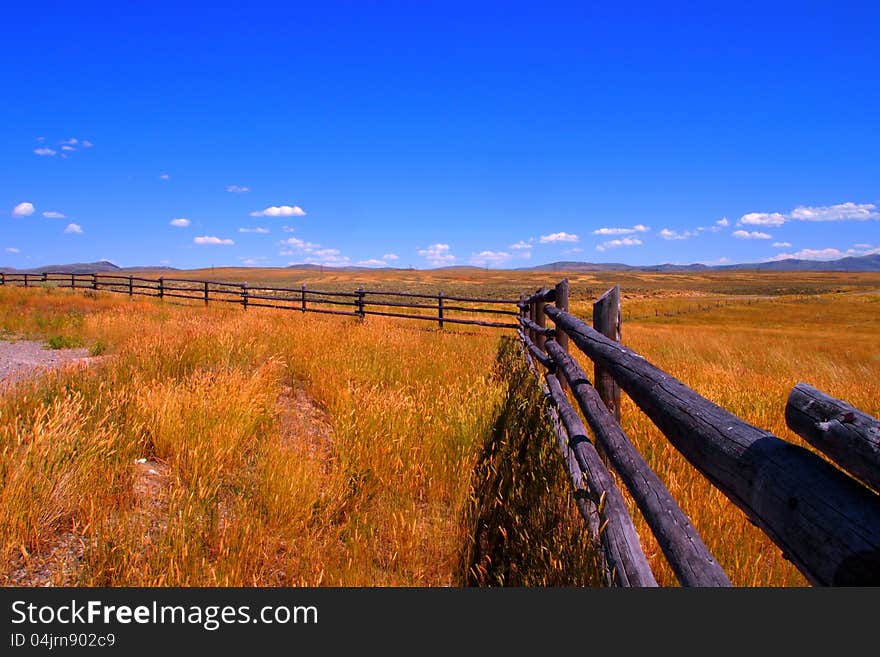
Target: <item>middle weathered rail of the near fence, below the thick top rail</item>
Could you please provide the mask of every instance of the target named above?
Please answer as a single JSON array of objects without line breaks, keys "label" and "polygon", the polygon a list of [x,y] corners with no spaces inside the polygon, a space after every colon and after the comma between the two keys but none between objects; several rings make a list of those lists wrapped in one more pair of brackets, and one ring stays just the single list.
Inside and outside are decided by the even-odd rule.
[{"label": "middle weathered rail of the near fence, below the thick top rail", "polygon": [[684,586],[730,586],[730,580],[690,519],[630,442],[580,365],[553,340],[545,346],[557,370],[568,381],[596,442],[657,537],[678,581]]}]

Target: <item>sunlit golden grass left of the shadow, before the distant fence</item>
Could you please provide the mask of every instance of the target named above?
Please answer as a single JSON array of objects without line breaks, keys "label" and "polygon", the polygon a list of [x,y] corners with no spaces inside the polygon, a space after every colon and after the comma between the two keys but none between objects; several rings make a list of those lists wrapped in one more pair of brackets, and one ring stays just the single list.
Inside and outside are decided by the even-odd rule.
[{"label": "sunlit golden grass left of the shadow, before the distant fence", "polygon": [[[0,399],[7,559],[75,531],[88,585],[457,576],[470,474],[501,387],[490,378],[497,332],[0,296],[4,326],[32,335],[41,317],[75,312],[77,335],[112,353],[100,372],[55,373]],[[330,422],[320,449],[278,421],[297,385]],[[152,513],[135,494],[138,458],[168,466]]]}]

